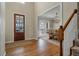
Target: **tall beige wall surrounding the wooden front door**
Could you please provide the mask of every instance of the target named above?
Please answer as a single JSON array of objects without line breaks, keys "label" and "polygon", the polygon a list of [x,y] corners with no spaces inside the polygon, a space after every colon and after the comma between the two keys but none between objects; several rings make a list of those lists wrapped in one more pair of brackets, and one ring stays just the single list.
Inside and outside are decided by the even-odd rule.
[{"label": "tall beige wall surrounding the wooden front door", "polygon": [[14,13],[25,15],[25,39],[34,38],[34,3],[6,2],[6,42],[14,41]]}]

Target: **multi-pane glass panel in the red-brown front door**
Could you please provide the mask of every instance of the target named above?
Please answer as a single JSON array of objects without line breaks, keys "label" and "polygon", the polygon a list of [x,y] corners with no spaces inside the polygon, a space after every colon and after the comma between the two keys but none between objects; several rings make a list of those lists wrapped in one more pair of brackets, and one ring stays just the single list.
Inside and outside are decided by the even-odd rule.
[{"label": "multi-pane glass panel in the red-brown front door", "polygon": [[23,16],[16,15],[16,32],[24,31]]}]

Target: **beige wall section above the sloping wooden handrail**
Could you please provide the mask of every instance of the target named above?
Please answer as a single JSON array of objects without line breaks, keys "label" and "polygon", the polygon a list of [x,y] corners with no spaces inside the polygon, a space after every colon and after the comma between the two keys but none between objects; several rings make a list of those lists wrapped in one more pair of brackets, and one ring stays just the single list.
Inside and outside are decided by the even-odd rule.
[{"label": "beige wall section above the sloping wooden handrail", "polygon": [[68,17],[72,14],[73,9],[77,8],[76,2],[63,2],[63,24]]}]

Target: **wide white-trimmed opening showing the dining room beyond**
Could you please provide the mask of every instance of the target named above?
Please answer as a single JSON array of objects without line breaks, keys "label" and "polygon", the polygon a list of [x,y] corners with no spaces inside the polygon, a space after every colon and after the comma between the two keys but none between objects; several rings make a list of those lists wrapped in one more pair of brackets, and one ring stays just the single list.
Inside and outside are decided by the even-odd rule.
[{"label": "wide white-trimmed opening showing the dining room beyond", "polygon": [[[56,33],[63,24],[62,3],[50,7],[38,15],[38,36],[45,40],[57,40]],[[52,36],[52,38],[50,38]]]}]

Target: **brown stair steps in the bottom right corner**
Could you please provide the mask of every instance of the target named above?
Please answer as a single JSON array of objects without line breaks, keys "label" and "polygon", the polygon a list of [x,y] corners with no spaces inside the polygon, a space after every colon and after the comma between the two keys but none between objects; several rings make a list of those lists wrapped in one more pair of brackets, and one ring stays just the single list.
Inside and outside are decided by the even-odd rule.
[{"label": "brown stair steps in the bottom right corner", "polygon": [[71,56],[79,56],[79,39],[73,41],[73,46],[70,49]]}]

